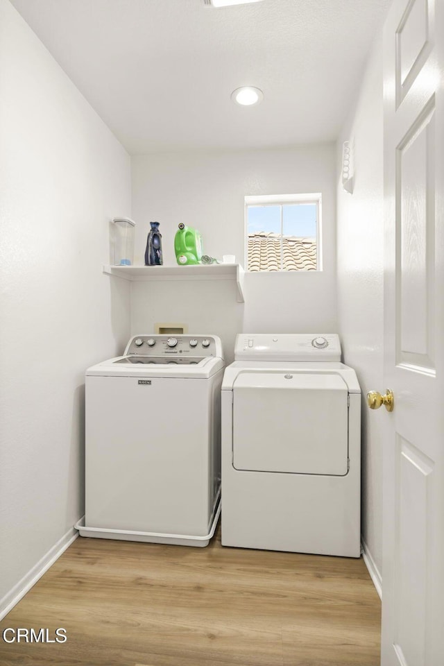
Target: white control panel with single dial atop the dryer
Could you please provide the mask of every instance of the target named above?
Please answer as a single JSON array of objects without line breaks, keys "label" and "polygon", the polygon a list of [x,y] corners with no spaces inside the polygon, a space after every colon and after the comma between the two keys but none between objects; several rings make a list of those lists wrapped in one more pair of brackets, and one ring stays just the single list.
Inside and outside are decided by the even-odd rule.
[{"label": "white control panel with single dial atop the dryer", "polygon": [[239,333],[236,361],[341,361],[336,333]]}]

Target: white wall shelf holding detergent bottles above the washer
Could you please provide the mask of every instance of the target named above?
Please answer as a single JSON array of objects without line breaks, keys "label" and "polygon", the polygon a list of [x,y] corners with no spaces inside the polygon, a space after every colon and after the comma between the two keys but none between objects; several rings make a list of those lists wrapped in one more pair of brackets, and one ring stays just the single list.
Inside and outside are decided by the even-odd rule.
[{"label": "white wall shelf holding detergent bottles above the washer", "polygon": [[244,268],[240,264],[196,266],[103,266],[103,273],[123,280],[236,280],[237,302],[244,302]]}]

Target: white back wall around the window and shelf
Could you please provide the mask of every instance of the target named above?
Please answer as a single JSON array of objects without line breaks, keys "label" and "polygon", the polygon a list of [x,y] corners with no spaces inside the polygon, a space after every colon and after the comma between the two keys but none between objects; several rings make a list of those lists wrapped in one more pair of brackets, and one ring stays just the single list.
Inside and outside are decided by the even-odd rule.
[{"label": "white back wall around the window and shelf", "polygon": [[[135,260],[139,264],[144,263],[149,222],[156,220],[160,222],[165,264],[176,265],[173,241],[179,222],[200,231],[205,254],[218,259],[234,254],[244,264],[244,196],[321,192],[323,272],[247,274],[243,326],[249,332],[336,330],[334,144],[268,151],[135,155],[132,169]],[[197,283],[192,283],[192,290],[190,283],[182,283],[177,289],[175,284],[164,284],[156,293],[149,284],[133,285],[133,332],[165,317],[173,317],[173,321],[186,317],[190,332],[198,332],[207,317],[206,329],[210,330],[206,332],[223,333],[229,358],[234,334],[241,330],[240,306],[226,300],[231,298],[229,293],[226,299],[221,296],[220,285],[217,300],[214,296],[212,301],[210,287],[203,287],[204,293]],[[223,305],[221,299],[225,299]]]}]

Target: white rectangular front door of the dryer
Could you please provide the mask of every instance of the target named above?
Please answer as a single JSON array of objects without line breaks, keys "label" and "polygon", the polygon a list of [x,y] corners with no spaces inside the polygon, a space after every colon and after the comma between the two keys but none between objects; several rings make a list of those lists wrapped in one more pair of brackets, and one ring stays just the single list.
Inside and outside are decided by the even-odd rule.
[{"label": "white rectangular front door of the dryer", "polygon": [[234,468],[347,474],[348,388],[340,375],[246,372],[233,392]]}]

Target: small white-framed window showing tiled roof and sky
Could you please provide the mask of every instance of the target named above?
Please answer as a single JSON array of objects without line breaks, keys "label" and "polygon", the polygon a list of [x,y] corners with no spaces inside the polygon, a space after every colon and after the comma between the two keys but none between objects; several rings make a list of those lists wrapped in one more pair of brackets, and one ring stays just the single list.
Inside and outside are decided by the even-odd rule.
[{"label": "small white-framed window showing tiled roof and sky", "polygon": [[245,197],[247,271],[321,271],[321,194]]}]

